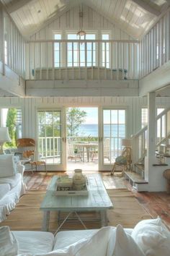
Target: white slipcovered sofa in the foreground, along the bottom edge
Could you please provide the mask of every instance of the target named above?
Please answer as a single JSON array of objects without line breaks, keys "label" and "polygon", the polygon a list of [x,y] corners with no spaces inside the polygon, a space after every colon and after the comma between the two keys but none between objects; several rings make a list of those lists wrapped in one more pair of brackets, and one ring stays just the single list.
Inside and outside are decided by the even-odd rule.
[{"label": "white slipcovered sofa in the foreground, along the bottom edge", "polygon": [[1,256],[169,256],[170,232],[161,218],[140,221],[134,229],[9,231],[0,228]]}]

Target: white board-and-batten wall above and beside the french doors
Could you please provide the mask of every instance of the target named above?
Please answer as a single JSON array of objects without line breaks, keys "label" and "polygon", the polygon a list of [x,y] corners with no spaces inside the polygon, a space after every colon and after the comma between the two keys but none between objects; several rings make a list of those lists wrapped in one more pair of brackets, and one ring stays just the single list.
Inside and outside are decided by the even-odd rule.
[{"label": "white board-and-batten wall above and beside the french doors", "polygon": [[[157,107],[168,107],[169,97],[156,98]],[[141,127],[141,108],[147,107],[147,97],[46,97],[17,98],[1,97],[0,108],[22,109],[22,136],[37,138],[37,109],[63,107],[100,107],[127,109],[127,137]]]}]

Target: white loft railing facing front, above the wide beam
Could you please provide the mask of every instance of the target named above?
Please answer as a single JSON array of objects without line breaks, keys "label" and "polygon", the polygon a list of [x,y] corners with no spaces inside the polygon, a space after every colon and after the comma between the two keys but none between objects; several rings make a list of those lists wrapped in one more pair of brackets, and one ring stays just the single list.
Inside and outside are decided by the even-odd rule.
[{"label": "white loft railing facing front, above the wide beam", "polygon": [[27,80],[135,80],[137,40],[35,40],[26,43]]}]

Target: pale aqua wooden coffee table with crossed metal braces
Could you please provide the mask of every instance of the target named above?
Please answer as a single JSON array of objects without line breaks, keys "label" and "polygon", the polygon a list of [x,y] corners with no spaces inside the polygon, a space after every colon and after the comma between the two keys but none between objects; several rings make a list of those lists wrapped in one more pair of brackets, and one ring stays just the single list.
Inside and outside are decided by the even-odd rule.
[{"label": "pale aqua wooden coffee table with crossed metal braces", "polygon": [[[46,195],[40,210],[43,211],[42,231],[48,231],[50,212],[57,211],[68,212],[68,216],[63,220],[63,223],[67,221],[71,213],[76,213],[77,218],[86,226],[79,216],[79,212],[97,211],[100,213],[101,226],[107,226],[107,209],[112,209],[113,205],[107,191],[102,182],[99,174],[91,174],[87,176],[89,195],[55,195],[56,181],[58,176],[53,176],[53,179],[48,186]],[[61,223],[61,226],[63,225]],[[58,230],[61,228],[58,227]]]}]

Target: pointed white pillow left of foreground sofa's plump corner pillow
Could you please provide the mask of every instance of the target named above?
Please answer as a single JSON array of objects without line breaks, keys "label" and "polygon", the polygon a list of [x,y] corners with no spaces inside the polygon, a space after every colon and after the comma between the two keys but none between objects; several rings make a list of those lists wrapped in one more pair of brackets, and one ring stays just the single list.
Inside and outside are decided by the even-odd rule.
[{"label": "pointed white pillow left of foreground sofa's plump corner pillow", "polygon": [[130,234],[121,225],[112,229],[107,245],[107,256],[145,256]]}]

